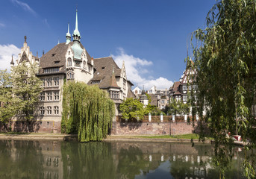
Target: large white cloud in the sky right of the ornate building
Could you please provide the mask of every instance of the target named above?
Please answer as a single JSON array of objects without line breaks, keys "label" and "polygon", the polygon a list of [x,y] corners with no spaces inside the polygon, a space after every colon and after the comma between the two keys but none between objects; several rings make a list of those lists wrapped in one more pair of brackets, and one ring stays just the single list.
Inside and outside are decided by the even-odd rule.
[{"label": "large white cloud in the sky right of the ornate building", "polygon": [[149,70],[147,69],[147,66],[153,65],[152,61],[126,54],[123,48],[119,48],[117,55],[112,54],[112,57],[119,67],[122,66],[122,60],[125,61],[127,78],[134,84],[134,86],[137,86],[138,84],[139,87],[143,87],[144,85],[145,90],[149,90],[151,87],[156,86],[158,90],[162,90],[165,88],[169,89],[173,84],[172,81],[163,77],[152,78],[152,75],[149,75]]}]

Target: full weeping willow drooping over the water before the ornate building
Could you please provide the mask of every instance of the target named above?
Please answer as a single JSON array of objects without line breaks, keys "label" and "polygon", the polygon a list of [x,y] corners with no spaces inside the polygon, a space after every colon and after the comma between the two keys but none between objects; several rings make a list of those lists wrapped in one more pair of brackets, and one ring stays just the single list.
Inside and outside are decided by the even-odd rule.
[{"label": "full weeping willow drooping over the water before the ornate building", "polygon": [[63,133],[77,133],[80,142],[100,141],[107,136],[113,115],[113,101],[104,90],[81,82],[64,85]]}]

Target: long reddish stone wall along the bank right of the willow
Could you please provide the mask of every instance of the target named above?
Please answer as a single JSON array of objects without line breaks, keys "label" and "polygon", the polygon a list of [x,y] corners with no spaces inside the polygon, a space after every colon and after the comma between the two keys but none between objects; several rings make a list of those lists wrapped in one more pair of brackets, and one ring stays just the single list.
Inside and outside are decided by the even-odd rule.
[{"label": "long reddish stone wall along the bank right of the willow", "polygon": [[114,135],[175,135],[193,134],[197,124],[188,122],[113,122]]}]

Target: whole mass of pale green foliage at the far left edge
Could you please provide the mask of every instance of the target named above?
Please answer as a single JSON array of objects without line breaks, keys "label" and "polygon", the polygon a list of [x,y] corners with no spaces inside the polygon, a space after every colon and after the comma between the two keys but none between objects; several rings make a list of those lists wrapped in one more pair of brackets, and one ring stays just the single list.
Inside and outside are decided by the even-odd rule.
[{"label": "whole mass of pale green foliage at the far left edge", "polygon": [[14,66],[11,73],[0,71],[0,120],[7,122],[16,114],[24,114],[26,119],[31,119],[39,94],[42,92],[41,81],[36,74],[37,64],[19,63]]}]

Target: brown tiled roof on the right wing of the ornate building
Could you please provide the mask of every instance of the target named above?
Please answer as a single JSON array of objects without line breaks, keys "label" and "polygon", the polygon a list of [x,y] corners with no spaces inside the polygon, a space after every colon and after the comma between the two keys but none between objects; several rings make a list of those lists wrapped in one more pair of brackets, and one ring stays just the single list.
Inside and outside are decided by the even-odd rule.
[{"label": "brown tiled roof on the right wing of the ornate building", "polygon": [[93,60],[93,65],[96,71],[93,79],[88,84],[92,84],[92,81],[101,81],[98,84],[100,88],[109,88],[111,86],[113,71],[115,77],[119,77],[121,74],[121,69],[119,69],[112,57],[96,58]]}]

